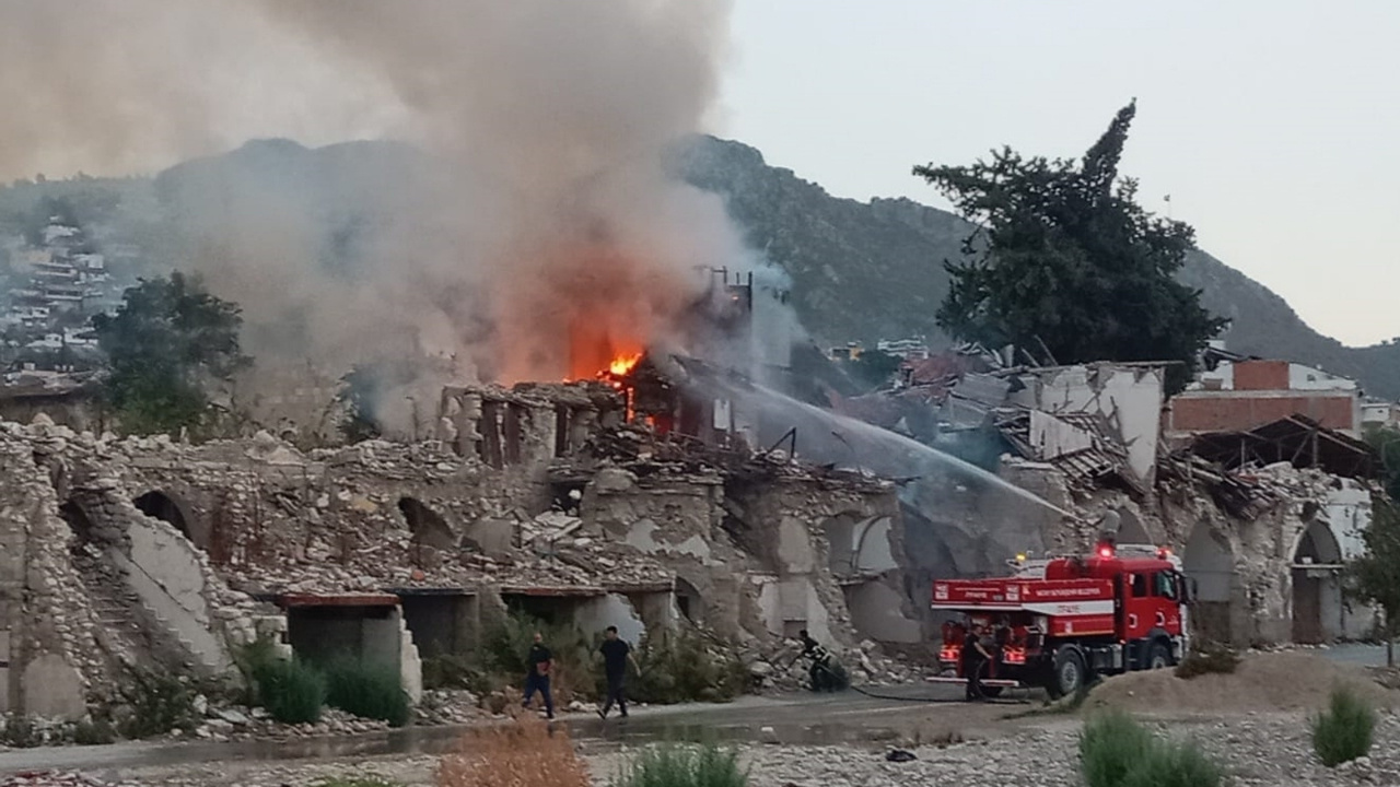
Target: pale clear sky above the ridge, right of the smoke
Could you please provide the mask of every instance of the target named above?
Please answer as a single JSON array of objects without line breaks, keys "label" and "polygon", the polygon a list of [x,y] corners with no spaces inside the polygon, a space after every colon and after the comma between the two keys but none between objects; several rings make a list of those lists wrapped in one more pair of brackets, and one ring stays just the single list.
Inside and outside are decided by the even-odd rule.
[{"label": "pale clear sky above the ridge, right of the smoke", "polygon": [[1123,172],[1203,249],[1348,344],[1400,335],[1400,0],[736,0],[718,132],[837,196],[1078,157],[1133,97]]}]

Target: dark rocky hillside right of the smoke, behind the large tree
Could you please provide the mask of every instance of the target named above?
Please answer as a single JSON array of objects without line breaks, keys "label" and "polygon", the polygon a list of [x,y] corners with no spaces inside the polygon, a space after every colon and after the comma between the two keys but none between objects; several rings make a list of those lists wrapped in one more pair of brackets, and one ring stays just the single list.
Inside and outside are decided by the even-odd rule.
[{"label": "dark rocky hillside right of the smoke, behind the large tree", "polygon": [[[924,333],[946,340],[934,311],[948,291],[944,259],[960,255],[969,224],[909,199],[839,199],[791,169],[769,167],[742,143],[701,137],[678,157],[680,174],[725,197],[749,242],[794,283],[802,323],[825,342],[874,342]],[[1233,322],[1239,353],[1280,357],[1355,377],[1368,392],[1400,399],[1400,344],[1345,347],[1305,323],[1281,297],[1204,252],[1182,280],[1204,290]]]}]

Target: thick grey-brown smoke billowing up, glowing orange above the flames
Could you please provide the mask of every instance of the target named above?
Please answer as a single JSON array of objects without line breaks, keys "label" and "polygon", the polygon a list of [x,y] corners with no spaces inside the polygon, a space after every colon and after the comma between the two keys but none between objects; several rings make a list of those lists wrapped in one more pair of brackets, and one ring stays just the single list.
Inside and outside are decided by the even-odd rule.
[{"label": "thick grey-brown smoke billowing up, glowing orange above the flames", "polygon": [[0,174],[123,172],[267,136],[414,146],[319,150],[302,172],[265,144],[161,179],[179,262],[242,304],[263,364],[581,377],[678,340],[696,269],[741,256],[718,199],[662,172],[714,102],[725,1],[0,14]]}]

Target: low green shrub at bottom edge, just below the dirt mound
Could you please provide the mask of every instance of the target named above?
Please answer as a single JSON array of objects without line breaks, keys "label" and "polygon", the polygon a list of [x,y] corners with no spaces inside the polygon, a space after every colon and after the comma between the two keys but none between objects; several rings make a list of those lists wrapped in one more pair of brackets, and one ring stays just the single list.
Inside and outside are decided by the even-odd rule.
[{"label": "low green shrub at bottom edge, just below the dirt mound", "polygon": [[1131,716],[1095,716],[1079,734],[1088,787],[1215,787],[1224,772],[1191,742],[1163,741]]}]

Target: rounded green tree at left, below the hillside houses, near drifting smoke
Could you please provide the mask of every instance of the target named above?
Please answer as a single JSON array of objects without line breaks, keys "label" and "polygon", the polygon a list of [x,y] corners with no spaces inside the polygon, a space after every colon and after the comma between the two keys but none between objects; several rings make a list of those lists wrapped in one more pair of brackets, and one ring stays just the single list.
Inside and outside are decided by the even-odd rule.
[{"label": "rounded green tree at left, below the hillside houses, near drifting smoke", "polygon": [[238,344],[238,305],[178,272],[129,287],[116,315],[97,315],[92,326],[108,361],[108,403],[127,431],[197,427],[207,386],[251,363]]}]

